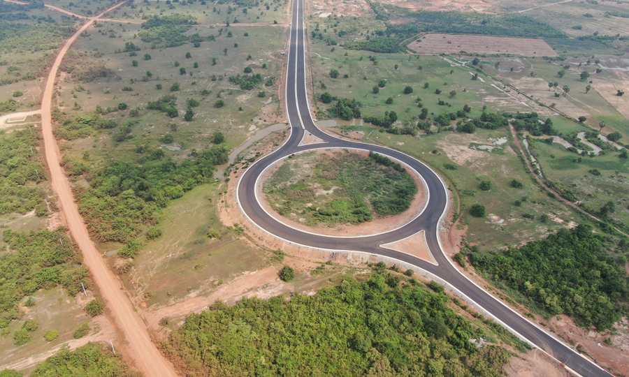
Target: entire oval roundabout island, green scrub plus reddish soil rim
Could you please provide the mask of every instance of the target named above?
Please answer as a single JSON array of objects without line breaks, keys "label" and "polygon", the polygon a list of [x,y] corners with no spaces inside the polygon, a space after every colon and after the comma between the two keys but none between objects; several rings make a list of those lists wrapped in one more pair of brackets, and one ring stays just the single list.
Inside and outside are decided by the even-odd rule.
[{"label": "entire oval roundabout island, green scrub plus reddish soil rim", "polygon": [[352,237],[412,221],[426,204],[424,187],[417,172],[386,156],[319,149],[277,161],[261,177],[259,197],[288,226]]}]

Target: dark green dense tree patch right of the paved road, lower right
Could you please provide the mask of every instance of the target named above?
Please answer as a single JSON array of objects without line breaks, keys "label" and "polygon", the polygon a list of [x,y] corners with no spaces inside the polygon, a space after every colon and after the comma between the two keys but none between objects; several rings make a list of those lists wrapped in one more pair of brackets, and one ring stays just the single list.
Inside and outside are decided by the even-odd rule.
[{"label": "dark green dense tree patch right of the paved road, lower right", "polygon": [[566,313],[584,325],[609,328],[627,314],[627,259],[605,253],[605,237],[591,226],[561,229],[546,239],[504,253],[475,251],[471,260],[551,314]]}]

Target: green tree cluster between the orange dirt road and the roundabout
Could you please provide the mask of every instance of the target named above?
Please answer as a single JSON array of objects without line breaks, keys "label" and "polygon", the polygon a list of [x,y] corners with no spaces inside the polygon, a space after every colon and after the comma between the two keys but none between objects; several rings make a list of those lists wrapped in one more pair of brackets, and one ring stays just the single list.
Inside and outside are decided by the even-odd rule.
[{"label": "green tree cluster between the orange dirt road and the roundabout", "polygon": [[227,154],[218,145],[193,151],[192,158],[177,164],[162,149],[137,145],[135,161],[110,162],[85,175],[89,188],[80,189],[79,211],[99,242],[129,242],[157,222],[157,209],[209,182]]}]

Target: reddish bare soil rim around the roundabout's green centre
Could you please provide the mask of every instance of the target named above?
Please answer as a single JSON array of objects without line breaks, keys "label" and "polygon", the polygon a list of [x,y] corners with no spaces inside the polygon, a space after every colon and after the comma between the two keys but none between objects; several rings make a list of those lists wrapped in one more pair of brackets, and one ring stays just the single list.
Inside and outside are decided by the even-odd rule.
[{"label": "reddish bare soil rim around the roundabout's green centre", "polygon": [[[332,151],[317,151],[318,155],[321,154],[333,154]],[[364,156],[367,156],[367,152],[360,152]],[[261,186],[264,186],[265,182],[268,181],[270,177],[282,166],[283,161],[275,164],[272,168],[270,168],[265,175],[261,178]],[[408,171],[408,170],[407,170]],[[361,223],[358,225],[353,225],[349,223],[331,225],[326,223],[319,223],[317,226],[307,226],[300,222],[299,214],[294,214],[294,216],[281,216],[278,214],[273,206],[269,204],[266,200],[265,195],[260,195],[261,204],[266,209],[267,212],[272,214],[276,219],[286,223],[287,225],[294,227],[299,230],[305,230],[308,232],[315,232],[321,235],[333,235],[333,236],[359,236],[359,235],[371,235],[376,232],[386,232],[388,230],[393,230],[402,226],[403,224],[414,219],[419,212],[426,205],[426,189],[424,187],[424,182],[420,177],[415,175],[413,172],[410,172],[410,175],[413,177],[415,184],[417,185],[418,192],[415,195],[414,200],[411,202],[410,208],[407,209],[402,214],[398,214],[395,216],[386,216],[381,218],[375,218],[372,221],[368,221],[366,223]],[[261,190],[261,187],[258,187],[258,190]],[[291,214],[293,215],[293,214]]]}]

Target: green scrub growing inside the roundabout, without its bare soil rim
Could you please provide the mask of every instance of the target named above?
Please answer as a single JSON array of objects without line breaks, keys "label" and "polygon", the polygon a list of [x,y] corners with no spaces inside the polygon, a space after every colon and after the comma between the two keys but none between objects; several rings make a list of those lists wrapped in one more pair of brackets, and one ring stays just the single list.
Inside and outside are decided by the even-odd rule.
[{"label": "green scrub growing inside the roundabout, without its bare soil rim", "polygon": [[[308,182],[305,176],[296,176],[289,161],[265,184],[264,192],[277,204],[277,213],[299,212],[310,225],[363,223],[373,219],[372,210],[379,216],[400,214],[417,193],[412,176],[399,163],[379,154],[319,156],[313,161],[315,168]],[[326,195],[317,195],[315,184],[325,188]]]}]

